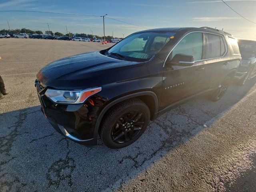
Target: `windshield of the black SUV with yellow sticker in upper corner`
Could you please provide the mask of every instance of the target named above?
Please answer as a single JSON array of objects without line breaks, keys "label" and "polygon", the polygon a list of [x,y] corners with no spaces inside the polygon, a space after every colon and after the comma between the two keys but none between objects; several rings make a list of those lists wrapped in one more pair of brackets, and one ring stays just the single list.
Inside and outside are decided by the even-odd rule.
[{"label": "windshield of the black SUV with yellow sticker in upper corner", "polygon": [[131,34],[105,52],[106,56],[129,61],[147,61],[172,40],[174,32]]}]

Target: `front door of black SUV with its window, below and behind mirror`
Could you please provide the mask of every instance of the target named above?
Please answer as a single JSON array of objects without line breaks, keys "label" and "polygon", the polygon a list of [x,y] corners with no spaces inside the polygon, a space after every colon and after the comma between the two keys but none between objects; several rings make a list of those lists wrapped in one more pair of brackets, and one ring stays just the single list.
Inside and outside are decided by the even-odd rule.
[{"label": "front door of black SUV with its window, below and behind mirror", "polygon": [[201,66],[203,62],[200,61],[204,49],[203,39],[202,32],[192,32],[174,46],[167,60],[172,60],[176,54],[187,54],[194,56],[195,63],[192,66],[164,67],[162,109],[200,92],[206,86],[202,83],[206,70]]}]

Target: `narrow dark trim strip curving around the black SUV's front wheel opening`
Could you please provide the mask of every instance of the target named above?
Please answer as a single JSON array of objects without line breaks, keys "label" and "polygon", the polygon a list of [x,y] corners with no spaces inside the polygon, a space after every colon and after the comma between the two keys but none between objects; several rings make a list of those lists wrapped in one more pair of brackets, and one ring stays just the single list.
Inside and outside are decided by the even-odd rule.
[{"label": "narrow dark trim strip curving around the black SUV's front wheel opening", "polygon": [[110,109],[115,104],[118,104],[118,103],[120,103],[124,100],[134,98],[134,97],[137,97],[137,96],[144,96],[144,95],[152,96],[154,98],[154,101],[155,101],[155,112],[154,112],[154,114],[156,114],[158,112],[158,98],[157,98],[156,94],[152,91],[142,91],[142,92],[137,92],[137,93],[133,93],[133,94],[129,94],[129,95],[120,97],[120,98],[110,102],[109,104],[107,104],[104,107],[104,109],[100,112],[100,114],[98,116],[98,119],[96,121],[96,124],[95,124],[95,128],[94,128],[94,139],[97,140],[97,138],[98,138],[98,130],[100,128],[100,122],[101,122],[104,114],[107,112],[108,109]]}]

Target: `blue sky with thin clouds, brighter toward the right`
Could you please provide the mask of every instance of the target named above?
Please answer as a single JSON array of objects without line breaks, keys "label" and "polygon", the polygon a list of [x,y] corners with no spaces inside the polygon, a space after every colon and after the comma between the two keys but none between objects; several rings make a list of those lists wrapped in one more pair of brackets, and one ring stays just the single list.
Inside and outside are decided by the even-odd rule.
[{"label": "blue sky with thin clouds, brighter toward the right", "polygon": [[[224,0],[239,14],[256,23],[256,0]],[[208,26],[233,34],[236,38],[256,40],[256,24],[240,17],[221,0],[0,0],[0,11],[26,10],[84,14],[74,16],[35,12],[0,12],[0,29],[27,27],[50,30],[126,37],[147,28]],[[95,17],[97,16],[97,17]],[[108,18],[109,17],[109,18]],[[124,22],[132,23],[130,25]]]}]

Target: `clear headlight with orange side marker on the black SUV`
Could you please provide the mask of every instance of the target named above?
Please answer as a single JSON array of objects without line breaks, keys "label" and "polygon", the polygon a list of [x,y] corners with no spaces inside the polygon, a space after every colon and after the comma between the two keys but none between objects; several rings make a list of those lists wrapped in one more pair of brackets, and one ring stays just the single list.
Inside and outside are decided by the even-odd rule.
[{"label": "clear headlight with orange side marker on the black SUV", "polygon": [[85,89],[81,91],[66,91],[66,90],[54,90],[47,89],[45,95],[54,103],[60,104],[79,104],[85,102],[85,100],[100,92],[101,87]]}]

